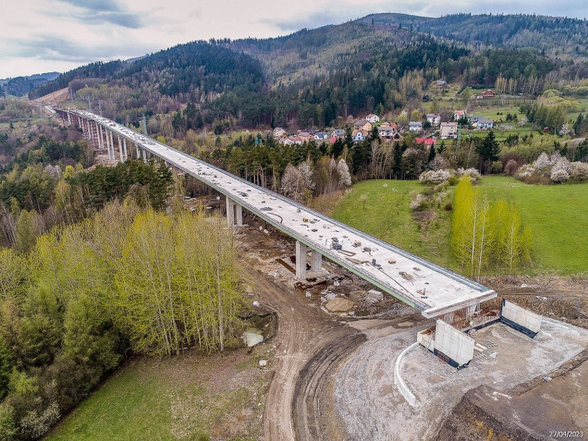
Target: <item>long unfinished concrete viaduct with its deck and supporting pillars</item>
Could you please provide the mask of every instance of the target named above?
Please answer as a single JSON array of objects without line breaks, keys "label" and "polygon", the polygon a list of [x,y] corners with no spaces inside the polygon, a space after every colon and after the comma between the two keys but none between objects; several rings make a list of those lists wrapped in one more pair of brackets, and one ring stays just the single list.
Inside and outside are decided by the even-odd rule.
[{"label": "long unfinished concrete viaduct with its deck and supporting pillars", "polygon": [[[343,266],[382,291],[418,308],[424,317],[450,319],[454,311],[473,313],[496,292],[447,268],[413,255],[331,217],[317,213],[277,193],[195,159],[115,121],[87,110],[56,108],[63,124],[81,128],[97,150],[111,161],[158,157],[226,197],[230,226],[242,226],[245,208],[296,240],[296,277],[322,271],[322,257]],[[451,321],[449,321],[451,323]]]}]

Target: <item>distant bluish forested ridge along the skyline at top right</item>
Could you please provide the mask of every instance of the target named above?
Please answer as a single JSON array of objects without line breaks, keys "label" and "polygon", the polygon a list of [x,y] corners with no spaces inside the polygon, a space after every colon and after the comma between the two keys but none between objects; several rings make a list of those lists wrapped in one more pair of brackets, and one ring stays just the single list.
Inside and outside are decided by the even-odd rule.
[{"label": "distant bluish forested ridge along the skyline at top right", "polygon": [[529,14],[452,14],[438,18],[371,14],[360,21],[402,26],[465,43],[537,48],[547,55],[588,58],[588,21]]}]

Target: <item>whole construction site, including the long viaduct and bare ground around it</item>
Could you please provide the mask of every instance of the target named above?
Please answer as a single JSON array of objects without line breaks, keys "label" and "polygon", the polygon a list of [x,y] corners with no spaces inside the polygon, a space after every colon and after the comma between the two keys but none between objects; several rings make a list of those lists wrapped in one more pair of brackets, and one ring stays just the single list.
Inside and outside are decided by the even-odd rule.
[{"label": "whole construction site, including the long viaduct and bare ground around it", "polygon": [[114,121],[57,112],[110,161],[117,137],[119,160],[136,151],[197,179],[200,196],[184,206],[219,210],[234,228],[251,308],[277,318],[275,331],[244,335],[272,373],[266,439],[585,433],[586,280],[486,286]]}]

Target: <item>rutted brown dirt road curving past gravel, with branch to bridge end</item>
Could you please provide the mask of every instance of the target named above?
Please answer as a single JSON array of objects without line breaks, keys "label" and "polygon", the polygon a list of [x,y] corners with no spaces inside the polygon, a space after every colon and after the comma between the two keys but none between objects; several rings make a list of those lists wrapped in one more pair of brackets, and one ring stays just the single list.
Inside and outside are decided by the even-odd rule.
[{"label": "rutted brown dirt road curving past gravel, with branch to bridge end", "polygon": [[[248,266],[246,279],[259,301],[277,313],[274,376],[264,413],[267,441],[334,440],[344,435],[331,419],[331,393],[326,385],[336,366],[367,336],[391,333],[395,324],[420,320],[412,308],[389,320],[341,320],[324,313],[309,299],[274,277]],[[336,436],[333,431],[339,433]]]}]

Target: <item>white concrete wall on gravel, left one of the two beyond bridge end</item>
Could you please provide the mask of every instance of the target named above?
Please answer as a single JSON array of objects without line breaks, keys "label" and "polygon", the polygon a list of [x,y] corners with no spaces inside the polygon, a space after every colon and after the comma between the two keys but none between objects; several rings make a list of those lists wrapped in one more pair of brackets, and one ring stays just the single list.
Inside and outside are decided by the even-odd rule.
[{"label": "white concrete wall on gravel, left one of the two beyond bridge end", "polygon": [[458,369],[467,366],[473,358],[474,344],[476,341],[466,333],[443,320],[437,320],[434,353],[444,360],[447,358],[451,366]]}]

